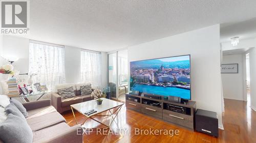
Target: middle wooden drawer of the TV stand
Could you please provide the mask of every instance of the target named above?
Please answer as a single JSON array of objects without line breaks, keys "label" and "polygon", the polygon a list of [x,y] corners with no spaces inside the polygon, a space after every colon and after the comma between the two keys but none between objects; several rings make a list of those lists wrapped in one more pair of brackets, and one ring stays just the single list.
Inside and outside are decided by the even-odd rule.
[{"label": "middle wooden drawer of the TV stand", "polygon": [[141,112],[145,113],[147,115],[153,116],[155,118],[160,118],[162,119],[162,109],[150,105],[141,105]]}]

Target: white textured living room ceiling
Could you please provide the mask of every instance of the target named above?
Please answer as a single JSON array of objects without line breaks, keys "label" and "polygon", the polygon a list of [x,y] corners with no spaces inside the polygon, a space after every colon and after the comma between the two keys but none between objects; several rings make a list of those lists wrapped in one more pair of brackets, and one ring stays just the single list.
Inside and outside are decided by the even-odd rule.
[{"label": "white textured living room ceiling", "polygon": [[30,1],[28,38],[112,51],[222,23],[256,17],[255,0]]}]

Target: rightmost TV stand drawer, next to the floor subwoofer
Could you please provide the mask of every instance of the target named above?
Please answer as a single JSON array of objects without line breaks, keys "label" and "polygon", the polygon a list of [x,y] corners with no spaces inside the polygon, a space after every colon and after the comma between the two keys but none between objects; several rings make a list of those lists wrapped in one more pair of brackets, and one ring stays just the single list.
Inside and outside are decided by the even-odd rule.
[{"label": "rightmost TV stand drawer, next to the floor subwoofer", "polygon": [[182,113],[163,110],[163,120],[194,129],[193,117]]}]

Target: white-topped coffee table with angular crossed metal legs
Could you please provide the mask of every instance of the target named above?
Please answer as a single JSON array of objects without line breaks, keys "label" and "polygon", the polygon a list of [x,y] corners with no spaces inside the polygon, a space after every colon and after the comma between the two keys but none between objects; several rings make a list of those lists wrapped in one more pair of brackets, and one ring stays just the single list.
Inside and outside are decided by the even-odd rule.
[{"label": "white-topped coffee table with angular crossed metal legs", "polygon": [[[74,109],[77,110],[79,113],[81,113],[83,116],[87,117],[87,119],[84,120],[81,123],[81,125],[84,125],[88,119],[92,119],[92,120],[100,123],[101,125],[104,125],[105,127],[103,127],[103,128],[110,128],[113,121],[115,121],[115,118],[117,117],[118,112],[120,111],[123,103],[122,102],[117,102],[117,101],[114,101],[114,100],[110,100],[110,99],[106,99],[106,98],[101,98],[101,99],[103,100],[101,105],[98,105],[95,100],[90,100],[90,101],[70,105],[71,110],[73,112],[73,116],[74,116],[75,121],[76,121],[76,124],[78,124],[78,123],[77,123],[77,120],[76,120],[76,117],[75,117]],[[87,112],[89,110],[92,110],[92,109],[96,110],[97,112],[92,113],[91,115],[87,115],[85,113],[85,112]],[[111,109],[114,109],[114,110],[111,111]],[[101,114],[101,113],[106,112],[106,111],[109,111],[110,113],[109,114],[104,114],[104,115]],[[114,113],[116,113],[116,114],[114,114]],[[106,117],[106,118],[111,117],[110,124],[106,125],[105,123],[102,123],[102,121],[96,120],[94,117],[97,117],[97,116]],[[87,129],[97,129],[97,128],[87,128]]]}]

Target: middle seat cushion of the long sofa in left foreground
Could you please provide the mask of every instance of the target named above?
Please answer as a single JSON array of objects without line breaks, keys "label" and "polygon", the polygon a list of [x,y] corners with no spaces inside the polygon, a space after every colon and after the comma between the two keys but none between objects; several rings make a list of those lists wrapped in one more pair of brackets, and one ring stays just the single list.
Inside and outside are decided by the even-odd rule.
[{"label": "middle seat cushion of the long sofa in left foreground", "polygon": [[43,116],[27,119],[27,123],[32,131],[38,131],[62,122],[66,123],[66,120],[60,115],[59,112],[51,112]]}]

